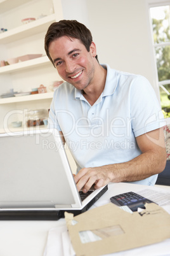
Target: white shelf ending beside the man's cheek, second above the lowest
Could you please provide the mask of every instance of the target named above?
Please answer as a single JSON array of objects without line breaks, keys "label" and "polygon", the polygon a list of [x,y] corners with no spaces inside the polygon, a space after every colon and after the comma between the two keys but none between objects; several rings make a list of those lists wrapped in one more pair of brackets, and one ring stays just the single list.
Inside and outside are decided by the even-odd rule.
[{"label": "white shelf ending beside the man's cheek, second above the lowest", "polygon": [[18,62],[16,64],[11,64],[8,66],[0,67],[0,75],[5,73],[13,73],[17,71],[22,71],[28,68],[36,68],[36,66],[42,66],[45,64],[51,64],[47,56],[42,56],[32,60],[26,60],[23,62]]}]

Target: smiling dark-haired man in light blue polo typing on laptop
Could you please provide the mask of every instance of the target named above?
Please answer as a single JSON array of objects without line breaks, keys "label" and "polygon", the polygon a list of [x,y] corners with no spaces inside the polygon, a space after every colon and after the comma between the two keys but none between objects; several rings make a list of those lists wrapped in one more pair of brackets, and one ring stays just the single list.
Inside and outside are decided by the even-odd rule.
[{"label": "smiling dark-haired man in light blue polo typing on laptop", "polygon": [[77,164],[77,189],[108,182],[154,185],[164,170],[161,110],[146,78],[100,65],[91,32],[75,20],[49,26],[46,53],[66,82],[55,90],[49,127]]}]

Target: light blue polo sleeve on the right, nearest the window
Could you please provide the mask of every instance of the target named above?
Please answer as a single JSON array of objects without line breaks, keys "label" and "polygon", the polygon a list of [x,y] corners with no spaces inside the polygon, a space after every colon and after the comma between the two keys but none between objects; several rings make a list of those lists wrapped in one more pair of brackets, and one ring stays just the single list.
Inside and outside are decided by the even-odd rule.
[{"label": "light blue polo sleeve on the right, nearest the window", "polygon": [[159,101],[147,78],[137,76],[131,84],[131,121],[134,136],[165,125]]}]

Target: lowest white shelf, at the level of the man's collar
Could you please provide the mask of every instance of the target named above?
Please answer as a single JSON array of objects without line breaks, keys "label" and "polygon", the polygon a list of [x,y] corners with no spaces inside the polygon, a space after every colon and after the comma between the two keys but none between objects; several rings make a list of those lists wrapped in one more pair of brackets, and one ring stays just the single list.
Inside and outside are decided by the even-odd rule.
[{"label": "lowest white shelf, at the level of the man's collar", "polygon": [[23,101],[37,101],[42,99],[52,99],[53,92],[46,92],[44,94],[30,94],[28,96],[18,96],[18,97],[9,97],[0,99],[0,104],[8,104],[8,103],[20,103]]}]

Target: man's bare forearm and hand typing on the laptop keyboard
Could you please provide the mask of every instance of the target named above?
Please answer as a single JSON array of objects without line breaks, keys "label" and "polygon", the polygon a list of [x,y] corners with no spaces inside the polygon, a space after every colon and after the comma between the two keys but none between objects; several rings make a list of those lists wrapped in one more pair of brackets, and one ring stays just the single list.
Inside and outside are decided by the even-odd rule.
[{"label": "man's bare forearm and hand typing on the laptop keyboard", "polygon": [[[82,168],[74,177],[77,189],[84,187],[89,190],[95,183],[95,188],[107,185],[108,182],[138,181],[163,171],[166,164],[166,150],[147,150],[138,157],[120,164],[110,164],[100,167]],[[86,184],[86,185],[85,185]]]}]

